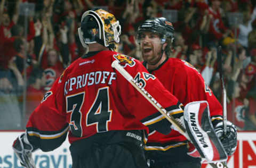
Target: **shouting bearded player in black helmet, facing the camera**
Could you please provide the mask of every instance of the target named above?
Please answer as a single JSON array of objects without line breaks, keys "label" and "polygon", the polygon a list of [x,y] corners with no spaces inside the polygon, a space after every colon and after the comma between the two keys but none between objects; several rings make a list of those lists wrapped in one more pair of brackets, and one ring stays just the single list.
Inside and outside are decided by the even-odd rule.
[{"label": "shouting bearded player in black helmet, facing the camera", "polygon": [[[222,137],[222,107],[212,90],[205,84],[201,74],[188,62],[169,58],[174,28],[165,18],[148,19],[139,26],[137,42],[141,46],[143,65],[155,75],[183,105],[206,100],[209,103],[213,127],[223,147],[230,156],[237,146],[236,128],[227,123],[227,136]],[[192,146],[179,132],[172,130],[169,135],[150,130],[145,147],[150,167],[183,168],[201,167],[201,158],[188,154]],[[188,154],[187,154],[188,153]]]}]

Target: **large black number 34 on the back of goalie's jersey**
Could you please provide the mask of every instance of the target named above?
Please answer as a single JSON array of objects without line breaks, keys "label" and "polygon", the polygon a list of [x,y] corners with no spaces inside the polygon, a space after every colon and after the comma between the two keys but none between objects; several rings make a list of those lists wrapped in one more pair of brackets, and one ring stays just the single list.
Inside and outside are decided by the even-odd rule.
[{"label": "large black number 34 on the back of goalie's jersey", "polygon": [[[111,120],[111,110],[109,109],[109,88],[103,87],[98,90],[97,96],[90,110],[86,114],[86,126],[96,124],[97,132],[108,131],[108,122]],[[66,97],[67,113],[71,113],[69,127],[71,132],[82,137],[82,112],[85,93],[78,93]]]}]

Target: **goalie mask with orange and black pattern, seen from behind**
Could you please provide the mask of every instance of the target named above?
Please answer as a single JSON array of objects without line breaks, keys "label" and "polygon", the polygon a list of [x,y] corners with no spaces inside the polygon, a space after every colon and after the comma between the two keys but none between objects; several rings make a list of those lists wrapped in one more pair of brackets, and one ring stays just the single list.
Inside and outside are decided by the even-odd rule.
[{"label": "goalie mask with orange and black pattern, seen from behind", "polygon": [[117,51],[121,26],[115,16],[102,9],[84,12],[78,36],[83,45],[99,43]]}]

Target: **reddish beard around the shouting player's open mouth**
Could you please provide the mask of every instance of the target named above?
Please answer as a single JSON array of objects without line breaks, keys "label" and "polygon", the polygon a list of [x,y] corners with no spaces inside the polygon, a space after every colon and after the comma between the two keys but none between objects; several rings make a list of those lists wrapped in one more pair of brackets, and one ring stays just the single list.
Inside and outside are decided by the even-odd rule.
[{"label": "reddish beard around the shouting player's open mouth", "polygon": [[142,49],[142,57],[148,64],[155,65],[159,62],[159,58],[161,58],[161,51],[156,51],[154,47]]}]

